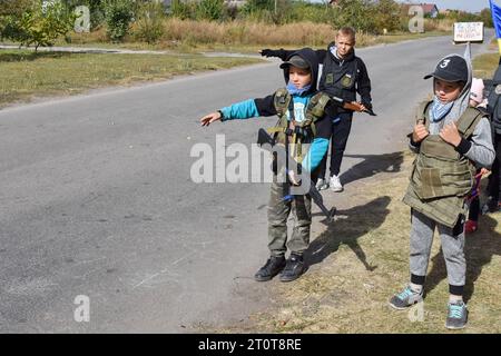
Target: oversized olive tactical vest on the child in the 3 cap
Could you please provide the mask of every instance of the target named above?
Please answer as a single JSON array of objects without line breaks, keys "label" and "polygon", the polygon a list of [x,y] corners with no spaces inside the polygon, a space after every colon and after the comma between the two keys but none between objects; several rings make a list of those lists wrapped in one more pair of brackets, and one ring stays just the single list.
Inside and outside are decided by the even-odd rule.
[{"label": "oversized olive tactical vest on the child in the 3 cap", "polygon": [[[429,128],[429,105],[420,106],[416,122]],[[469,139],[477,123],[484,116],[469,107],[456,126],[461,137]],[[439,135],[429,135],[420,147],[413,162],[411,181],[403,201],[429,218],[454,228],[461,215],[466,214],[464,199],[473,188],[474,165],[460,155],[452,145]]]}]

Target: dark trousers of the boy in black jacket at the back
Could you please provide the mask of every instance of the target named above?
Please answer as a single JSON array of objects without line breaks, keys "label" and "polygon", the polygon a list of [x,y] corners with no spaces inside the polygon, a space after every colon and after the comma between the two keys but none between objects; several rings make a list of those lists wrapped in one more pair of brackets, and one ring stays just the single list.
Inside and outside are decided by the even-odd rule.
[{"label": "dark trousers of the boy in black jacket at the back", "polygon": [[[337,117],[332,118],[332,135],[331,135],[331,177],[338,176],[341,170],[341,162],[343,161],[344,149],[346,148],[347,138],[352,130],[353,112],[341,112]],[[327,168],[327,156],[325,155],[321,162],[318,178],[325,178],[325,170]]]}]

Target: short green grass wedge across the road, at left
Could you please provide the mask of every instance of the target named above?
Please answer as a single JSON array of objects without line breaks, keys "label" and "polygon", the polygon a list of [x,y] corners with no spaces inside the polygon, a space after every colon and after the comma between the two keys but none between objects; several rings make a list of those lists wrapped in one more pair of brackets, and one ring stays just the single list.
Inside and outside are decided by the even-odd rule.
[{"label": "short green grass wedge across the road, at left", "polygon": [[97,55],[0,50],[0,107],[33,97],[79,93],[106,86],[257,63],[250,58],[198,55]]}]

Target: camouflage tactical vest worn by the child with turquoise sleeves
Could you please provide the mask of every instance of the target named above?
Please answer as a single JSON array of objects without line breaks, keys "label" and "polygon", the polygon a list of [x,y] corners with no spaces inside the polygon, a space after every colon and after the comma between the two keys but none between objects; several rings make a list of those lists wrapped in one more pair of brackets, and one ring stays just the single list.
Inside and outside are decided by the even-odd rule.
[{"label": "camouflage tactical vest worn by the child with turquoise sleeves", "polygon": [[305,120],[302,122],[287,120],[291,100],[292,96],[288,93],[287,89],[282,88],[275,92],[274,106],[278,116],[278,121],[275,127],[267,129],[267,131],[269,135],[273,135],[278,144],[285,145],[287,140],[292,150],[291,156],[301,164],[304,158],[302,144],[311,144],[315,138],[316,131],[314,123],[324,116],[324,109],[331,99],[323,92],[314,95],[310,99],[305,111]]}]

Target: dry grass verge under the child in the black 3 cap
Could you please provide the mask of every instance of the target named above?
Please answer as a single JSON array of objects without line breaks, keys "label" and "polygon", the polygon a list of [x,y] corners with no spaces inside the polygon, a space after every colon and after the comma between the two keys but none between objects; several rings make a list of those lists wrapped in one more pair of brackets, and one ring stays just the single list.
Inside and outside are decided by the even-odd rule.
[{"label": "dry grass verge under the child in the black 3 cap", "polygon": [[[312,235],[310,270],[289,284],[275,278],[266,286],[276,296],[269,309],[252,315],[246,326],[217,332],[449,333],[448,280],[436,236],[423,308],[399,312],[387,303],[409,280],[410,208],[401,199],[411,162],[411,154],[375,157],[373,166],[392,164],[393,171],[346,186],[347,207]],[[470,323],[459,333],[501,333],[500,221],[501,214],[482,216],[479,230],[466,237]]]}]

